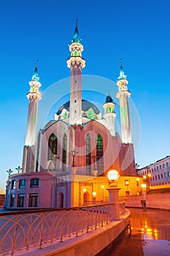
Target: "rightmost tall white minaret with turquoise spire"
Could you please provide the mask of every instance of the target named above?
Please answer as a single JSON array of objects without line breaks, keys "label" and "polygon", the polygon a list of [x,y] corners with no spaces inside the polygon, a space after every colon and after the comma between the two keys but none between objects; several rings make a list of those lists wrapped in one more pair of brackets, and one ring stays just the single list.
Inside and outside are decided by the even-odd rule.
[{"label": "rightmost tall white minaret with turquoise spire", "polygon": [[128,97],[130,97],[131,93],[127,88],[128,80],[126,77],[127,75],[125,75],[123,71],[122,60],[120,59],[120,75],[117,78],[117,86],[119,91],[117,91],[116,97],[120,99],[122,140],[123,143],[131,143],[131,124],[128,109]]}]

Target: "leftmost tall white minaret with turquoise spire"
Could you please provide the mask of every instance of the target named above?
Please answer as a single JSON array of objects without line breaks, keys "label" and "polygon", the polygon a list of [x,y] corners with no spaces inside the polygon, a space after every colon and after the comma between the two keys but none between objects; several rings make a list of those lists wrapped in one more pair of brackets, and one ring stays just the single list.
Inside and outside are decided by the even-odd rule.
[{"label": "leftmost tall white minaret with turquoise spire", "polygon": [[29,99],[29,108],[28,108],[28,120],[27,120],[27,129],[26,129],[26,146],[33,146],[36,140],[36,120],[38,113],[38,102],[41,99],[41,93],[39,87],[41,83],[39,82],[38,75],[38,61],[36,61],[36,68],[34,75],[32,76],[31,82],[29,82],[30,91],[26,95]]}]

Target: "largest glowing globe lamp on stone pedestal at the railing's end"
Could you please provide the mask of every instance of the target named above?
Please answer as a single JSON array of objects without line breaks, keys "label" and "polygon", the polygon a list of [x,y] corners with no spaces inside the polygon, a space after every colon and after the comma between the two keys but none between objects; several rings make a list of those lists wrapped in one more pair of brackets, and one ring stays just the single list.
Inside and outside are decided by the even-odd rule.
[{"label": "largest glowing globe lamp on stone pedestal at the railing's end", "polygon": [[111,182],[109,189],[109,202],[114,203],[114,211],[110,214],[111,220],[120,219],[120,208],[119,208],[119,197],[118,193],[120,190],[120,187],[117,187],[117,184],[115,183],[118,181],[120,175],[117,172],[117,170],[109,170],[107,173],[107,178]]}]

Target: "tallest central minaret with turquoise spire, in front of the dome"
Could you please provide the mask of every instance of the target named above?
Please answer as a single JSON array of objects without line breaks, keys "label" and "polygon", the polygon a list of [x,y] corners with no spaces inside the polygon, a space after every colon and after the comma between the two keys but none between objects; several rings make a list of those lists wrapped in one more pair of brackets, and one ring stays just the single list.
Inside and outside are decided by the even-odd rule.
[{"label": "tallest central minaret with turquoise spire, in front of the dome", "polygon": [[66,61],[67,67],[71,69],[69,124],[82,124],[82,68],[85,67],[85,59],[82,59],[83,45],[79,37],[77,21],[69,50],[71,56]]}]

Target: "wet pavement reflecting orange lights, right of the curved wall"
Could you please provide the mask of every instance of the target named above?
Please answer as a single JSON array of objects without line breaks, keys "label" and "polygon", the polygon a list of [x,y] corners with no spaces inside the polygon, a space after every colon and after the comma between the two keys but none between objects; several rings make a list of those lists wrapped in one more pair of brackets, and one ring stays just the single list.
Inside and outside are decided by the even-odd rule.
[{"label": "wet pavement reflecting orange lights, right of the curved wall", "polygon": [[[129,208],[130,227],[110,256],[169,256],[170,211]],[[106,256],[107,256],[106,255]]]}]

